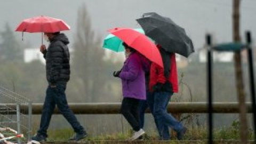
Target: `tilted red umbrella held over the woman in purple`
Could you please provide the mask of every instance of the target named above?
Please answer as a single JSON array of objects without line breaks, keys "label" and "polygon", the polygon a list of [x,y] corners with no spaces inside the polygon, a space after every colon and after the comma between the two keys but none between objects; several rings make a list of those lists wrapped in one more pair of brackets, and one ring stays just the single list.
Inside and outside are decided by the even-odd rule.
[{"label": "tilted red umbrella held over the woman in purple", "polygon": [[143,54],[149,60],[163,67],[163,61],[159,50],[147,36],[130,28],[114,28],[110,29],[109,32],[122,39],[127,45],[133,47],[133,49]]}]

